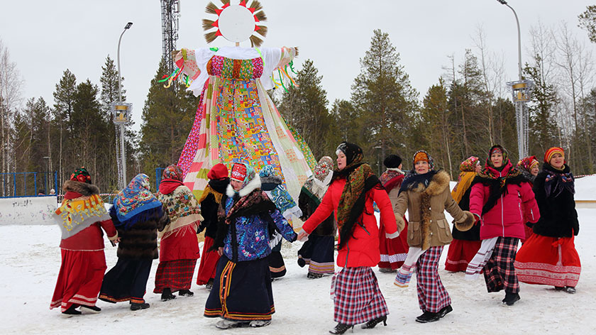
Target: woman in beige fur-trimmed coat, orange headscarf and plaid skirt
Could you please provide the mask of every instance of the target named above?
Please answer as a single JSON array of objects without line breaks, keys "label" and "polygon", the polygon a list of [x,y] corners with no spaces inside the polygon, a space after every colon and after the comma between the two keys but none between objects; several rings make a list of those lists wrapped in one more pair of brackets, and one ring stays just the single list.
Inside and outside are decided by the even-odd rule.
[{"label": "woman in beige fur-trimmed coat, orange headscarf and plaid skirt", "polygon": [[410,246],[394,284],[407,286],[415,264],[418,302],[423,312],[416,321],[435,322],[453,310],[451,298],[438,276],[438,260],[443,247],[453,240],[444,212],[447,210],[453,216],[461,231],[470,229],[475,220],[470,212],[462,211],[453,200],[449,175],[443,170],[433,170],[433,159],[426,151],[414,154],[413,166],[394,204],[397,221],[403,221],[402,216],[408,209]]}]

